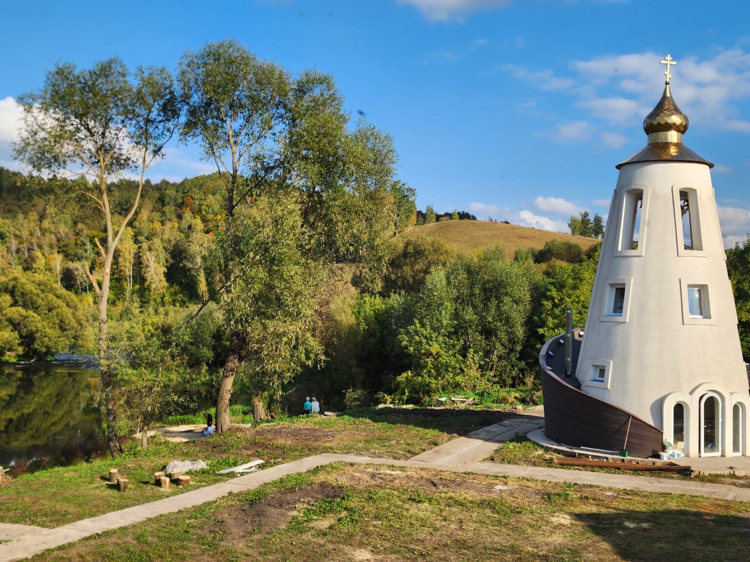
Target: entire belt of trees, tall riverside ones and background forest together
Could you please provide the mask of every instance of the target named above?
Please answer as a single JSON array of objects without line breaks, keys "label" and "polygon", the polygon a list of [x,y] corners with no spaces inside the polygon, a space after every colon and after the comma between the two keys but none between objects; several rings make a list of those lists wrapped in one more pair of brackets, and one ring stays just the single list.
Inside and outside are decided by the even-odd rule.
[{"label": "entire belt of trees, tall riverside ones and background forest together", "polygon": [[[402,238],[476,217],[418,211],[389,134],[350,120],[332,76],[224,40],[174,74],[57,64],[20,100],[15,152],[35,173],[0,169],[0,357],[97,354],[113,455],[121,429],[211,404],[223,432],[230,401],[257,420],[305,394],[535,402],[541,344],[565,307],[585,321],[598,244]],[[217,172],[145,179],[175,136]],[[747,356],[750,244],[728,256]]]}]

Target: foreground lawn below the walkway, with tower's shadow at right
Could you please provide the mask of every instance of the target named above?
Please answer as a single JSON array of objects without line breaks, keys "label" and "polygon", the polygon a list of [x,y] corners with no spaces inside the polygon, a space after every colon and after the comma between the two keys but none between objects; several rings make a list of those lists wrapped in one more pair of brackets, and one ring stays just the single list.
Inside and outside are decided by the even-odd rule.
[{"label": "foreground lawn below the walkway, with tower's shadow at right", "polygon": [[332,465],[34,561],[745,560],[750,506],[595,486]]}]

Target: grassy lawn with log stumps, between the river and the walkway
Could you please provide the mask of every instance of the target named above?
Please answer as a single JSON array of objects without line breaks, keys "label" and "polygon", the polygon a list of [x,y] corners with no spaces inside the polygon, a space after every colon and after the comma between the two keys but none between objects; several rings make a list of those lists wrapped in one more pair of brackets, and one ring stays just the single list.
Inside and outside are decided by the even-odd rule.
[{"label": "grassy lawn with log stumps, between the river and the walkway", "polygon": [[[235,427],[187,443],[154,438],[148,449],[133,444],[115,461],[104,457],[13,478],[0,486],[0,522],[58,527],[226,480],[216,471],[256,458],[266,461],[263,468],[317,453],[407,459],[506,416],[486,410],[363,408],[342,417],[296,417],[255,428]],[[173,459],[202,459],[209,468],[191,472],[187,489],[152,486],[153,473]],[[128,492],[117,492],[105,480],[110,468],[130,480]]]}]

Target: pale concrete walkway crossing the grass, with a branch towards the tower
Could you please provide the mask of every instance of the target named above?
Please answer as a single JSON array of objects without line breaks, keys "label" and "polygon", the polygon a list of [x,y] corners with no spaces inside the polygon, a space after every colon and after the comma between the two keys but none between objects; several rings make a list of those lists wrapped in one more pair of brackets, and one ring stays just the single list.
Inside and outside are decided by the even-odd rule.
[{"label": "pale concrete walkway crossing the grass, with a branch towards the tower", "polygon": [[[505,423],[508,422],[508,423]],[[266,483],[299,472],[309,471],[332,462],[351,462],[371,465],[391,465],[411,468],[434,468],[441,471],[474,472],[491,476],[533,478],[548,482],[566,482],[588,486],[607,486],[616,489],[638,490],[642,492],[660,492],[682,495],[703,495],[722,500],[750,502],[750,489],[726,486],[723,484],[702,484],[664,478],[634,477],[625,474],[602,474],[586,471],[570,471],[562,468],[541,468],[521,465],[499,465],[493,462],[477,462],[489,456],[499,444],[514,437],[516,433],[530,431],[527,427],[538,428],[534,417],[505,420],[484,429],[472,432],[466,437],[449,441],[409,460],[373,459],[354,455],[322,454],[310,456],[299,461],[287,462],[266,468],[263,471],[226,480],[226,482],[205,486],[171,498],[153,501],[149,504],[129,507],[125,510],[106,513],[102,516],[83,519],[69,525],[54,529],[28,528],[18,530],[10,543],[0,544],[0,562],[14,562],[29,558],[46,549],[52,549],[66,543],[133,525],[187,507],[194,507],[214,501],[230,492],[244,492],[263,486]],[[450,446],[450,447],[449,447]],[[487,453],[487,451],[489,451]],[[28,531],[28,532],[27,532]],[[0,537],[0,540],[7,540]]]}]

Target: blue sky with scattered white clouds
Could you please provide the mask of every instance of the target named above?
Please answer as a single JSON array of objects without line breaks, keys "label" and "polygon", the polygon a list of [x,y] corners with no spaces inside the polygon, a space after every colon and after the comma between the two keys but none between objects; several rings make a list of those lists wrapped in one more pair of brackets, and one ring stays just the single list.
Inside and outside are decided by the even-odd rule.
[{"label": "blue sky with scattered white clouds", "polygon": [[[616,163],[646,144],[663,88],[690,118],[685,144],[716,164],[727,246],[750,232],[750,4],[682,1],[348,0],[29,4],[2,0],[0,165],[18,168],[15,99],[57,61],[119,55],[175,67],[236,37],[293,73],[332,73],[347,109],[392,134],[418,205],[565,230],[606,214]],[[152,178],[210,172],[172,146]]]}]

